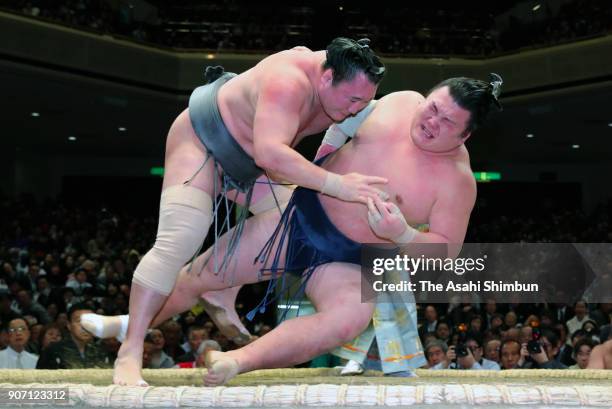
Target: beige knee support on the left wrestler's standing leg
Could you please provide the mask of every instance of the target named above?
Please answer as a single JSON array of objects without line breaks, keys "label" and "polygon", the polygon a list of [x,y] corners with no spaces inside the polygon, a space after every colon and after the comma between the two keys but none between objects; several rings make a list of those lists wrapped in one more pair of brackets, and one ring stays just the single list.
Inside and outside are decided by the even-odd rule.
[{"label": "beige knee support on the left wrestler's standing leg", "polygon": [[212,211],[212,198],[203,190],[184,185],[164,189],[155,245],[136,267],[134,282],[170,294],[180,269],[204,241]]}]

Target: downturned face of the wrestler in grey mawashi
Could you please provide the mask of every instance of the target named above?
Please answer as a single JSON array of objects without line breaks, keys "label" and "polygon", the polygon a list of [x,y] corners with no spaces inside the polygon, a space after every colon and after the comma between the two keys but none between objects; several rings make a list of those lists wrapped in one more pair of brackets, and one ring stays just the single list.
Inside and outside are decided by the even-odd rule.
[{"label": "downturned face of the wrestler in grey mawashi", "polygon": [[376,95],[376,88],[362,72],[351,80],[333,84],[331,70],[326,70],[321,78],[319,98],[325,113],[334,122],[342,122],[365,108]]}]

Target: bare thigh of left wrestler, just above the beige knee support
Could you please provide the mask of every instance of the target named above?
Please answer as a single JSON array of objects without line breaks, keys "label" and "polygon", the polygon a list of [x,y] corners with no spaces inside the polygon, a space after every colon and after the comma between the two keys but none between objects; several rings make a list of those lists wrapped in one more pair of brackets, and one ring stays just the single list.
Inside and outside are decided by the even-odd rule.
[{"label": "bare thigh of left wrestler, just above the beige knee support", "polygon": [[193,177],[189,185],[204,190],[212,196],[215,183],[214,160],[212,158],[208,160],[200,170],[206,157],[206,148],[193,130],[189,110],[185,109],[174,120],[168,131],[162,189],[182,184]]}]

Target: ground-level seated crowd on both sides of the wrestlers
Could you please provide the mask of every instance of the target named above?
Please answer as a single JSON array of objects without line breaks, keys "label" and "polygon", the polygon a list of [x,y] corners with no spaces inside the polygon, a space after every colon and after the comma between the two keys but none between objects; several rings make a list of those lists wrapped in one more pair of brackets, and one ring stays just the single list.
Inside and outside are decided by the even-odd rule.
[{"label": "ground-level seated crowd on both sides of the wrestlers", "polygon": [[[609,215],[608,205],[591,215],[553,212],[537,222],[481,217],[468,237],[483,242],[603,242],[610,239]],[[127,313],[132,274],[154,240],[155,227],[153,215],[40,203],[27,195],[2,198],[0,368],[112,367],[119,342],[95,339],[81,327],[80,316]],[[259,285],[242,290],[237,305],[241,317],[262,291]],[[612,303],[461,299],[420,304],[418,310],[419,336],[432,369],[585,368],[594,346],[611,337]],[[254,335],[263,335],[275,317],[272,313],[244,322]],[[202,366],[207,350],[235,347],[195,306],[149,332],[143,365]]]}]

